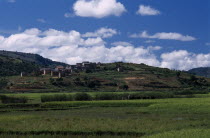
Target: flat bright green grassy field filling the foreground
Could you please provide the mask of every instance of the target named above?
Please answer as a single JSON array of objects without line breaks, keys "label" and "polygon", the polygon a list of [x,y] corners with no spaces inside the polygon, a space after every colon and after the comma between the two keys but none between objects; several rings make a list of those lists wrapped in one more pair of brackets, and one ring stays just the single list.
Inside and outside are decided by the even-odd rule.
[{"label": "flat bright green grassy field filling the foreground", "polygon": [[209,137],[209,96],[0,104],[0,137]]}]

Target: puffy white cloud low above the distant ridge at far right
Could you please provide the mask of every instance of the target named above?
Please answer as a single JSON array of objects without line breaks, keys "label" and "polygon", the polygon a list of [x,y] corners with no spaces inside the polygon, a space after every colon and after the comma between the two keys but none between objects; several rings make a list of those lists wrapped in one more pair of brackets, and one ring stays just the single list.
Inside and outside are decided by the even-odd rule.
[{"label": "puffy white cloud low above the distant ridge at far right", "polygon": [[164,68],[189,70],[197,67],[210,66],[210,53],[195,54],[186,50],[179,50],[163,53],[161,59],[161,67]]}]

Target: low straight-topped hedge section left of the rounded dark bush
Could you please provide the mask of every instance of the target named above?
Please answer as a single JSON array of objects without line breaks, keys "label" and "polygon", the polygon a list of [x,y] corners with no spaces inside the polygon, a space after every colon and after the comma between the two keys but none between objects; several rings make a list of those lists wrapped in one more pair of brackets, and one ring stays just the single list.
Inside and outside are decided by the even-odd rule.
[{"label": "low straight-topped hedge section left of the rounded dark bush", "polygon": [[72,95],[66,94],[55,94],[55,95],[42,95],[41,102],[51,102],[51,101],[72,101]]}]

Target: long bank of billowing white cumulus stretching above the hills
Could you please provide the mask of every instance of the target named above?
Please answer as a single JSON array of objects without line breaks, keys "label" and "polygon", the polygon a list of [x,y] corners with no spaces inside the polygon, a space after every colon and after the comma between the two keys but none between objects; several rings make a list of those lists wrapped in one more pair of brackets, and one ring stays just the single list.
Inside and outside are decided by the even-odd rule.
[{"label": "long bank of billowing white cumulus stretching above the hills", "polygon": [[160,49],[160,46],[134,46],[123,41],[107,46],[102,37],[84,38],[75,30],[41,31],[31,28],[8,37],[0,36],[0,50],[37,53],[69,64],[87,60],[104,63],[124,61],[180,70],[210,66],[210,53],[195,54],[179,50],[157,57],[155,51]]}]

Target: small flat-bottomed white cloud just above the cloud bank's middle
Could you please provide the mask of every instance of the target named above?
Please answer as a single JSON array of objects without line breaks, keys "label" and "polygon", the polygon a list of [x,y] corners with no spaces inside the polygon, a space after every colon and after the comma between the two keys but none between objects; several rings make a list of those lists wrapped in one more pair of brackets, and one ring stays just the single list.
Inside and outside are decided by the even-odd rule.
[{"label": "small flat-bottomed white cloud just above the cloud bank's middle", "polygon": [[87,32],[87,33],[83,34],[82,36],[83,37],[109,38],[116,34],[118,34],[118,32],[115,29],[102,27],[102,28],[96,30],[95,32]]}]

